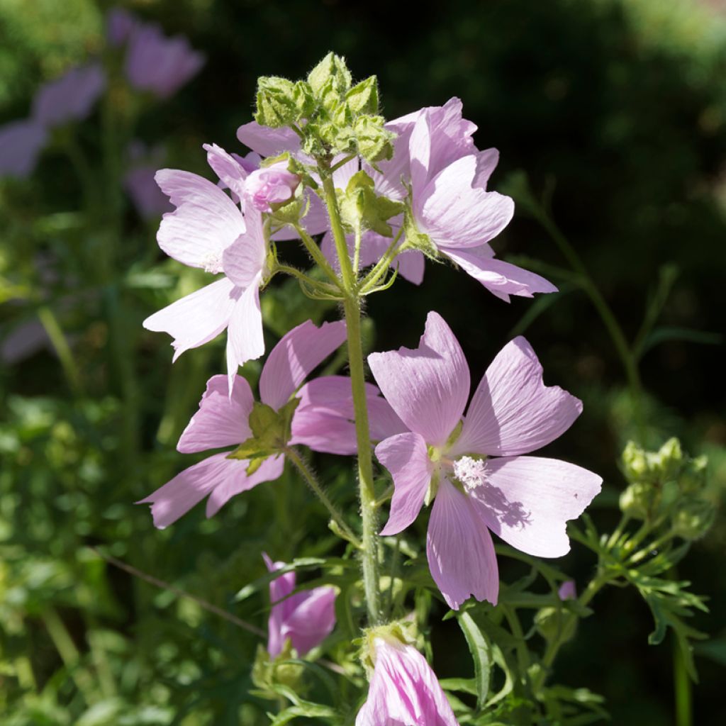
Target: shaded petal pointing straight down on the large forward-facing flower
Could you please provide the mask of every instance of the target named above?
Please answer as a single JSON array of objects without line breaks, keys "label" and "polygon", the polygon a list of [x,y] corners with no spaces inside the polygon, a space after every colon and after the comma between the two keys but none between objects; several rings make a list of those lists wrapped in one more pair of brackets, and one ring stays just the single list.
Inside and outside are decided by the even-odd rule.
[{"label": "shaded petal pointing straight down on the large forward-facing flower", "polygon": [[433,581],[453,610],[468,600],[497,604],[499,570],[492,536],[468,497],[444,479],[433,500],[426,537]]}]

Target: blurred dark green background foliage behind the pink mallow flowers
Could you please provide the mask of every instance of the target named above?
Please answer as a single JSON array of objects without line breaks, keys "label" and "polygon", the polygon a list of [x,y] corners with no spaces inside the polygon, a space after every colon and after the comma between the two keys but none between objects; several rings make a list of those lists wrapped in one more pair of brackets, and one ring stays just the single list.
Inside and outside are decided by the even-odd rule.
[{"label": "blurred dark green background foliage behind the pink mallow flowers", "polygon": [[[27,115],[39,83],[102,52],[108,7],[0,0],[0,123]],[[241,151],[234,134],[250,120],[256,78],[302,76],[328,49],[346,55],[359,78],[378,74],[387,118],[461,97],[478,124],[478,147],[501,152],[493,187],[526,199],[518,174],[526,172],[531,194],[547,200],[627,338],[640,335],[645,443],[679,436],[690,454],[708,454],[711,494],[723,501],[722,4],[139,0],[124,7],[184,33],[207,56],[188,86],[134,116],[134,136],[161,144],[168,166],[211,176],[201,144]],[[91,163],[102,155],[109,114],[125,113],[116,103],[123,98],[109,94],[78,127],[76,142]],[[106,174],[95,196],[86,189],[84,197],[67,140],[54,140],[30,179],[0,183],[0,721],[264,722],[269,703],[246,695],[261,641],[111,566],[94,548],[264,629],[264,588],[241,603],[234,593],[264,571],[263,549],[281,560],[329,551],[330,539],[319,538],[325,518],[294,473],[237,497],[212,520],[196,507],[166,531],[133,505],[188,465],[174,444],[205,380],[224,370],[223,348],[217,340],[172,368],[166,337],[142,329],[144,317],[195,289],[200,276],[158,252],[158,220],[136,216],[118,176]],[[507,306],[460,272],[429,265],[421,287],[397,282],[370,300],[368,344],[415,344],[435,309],[476,378],[505,340],[526,332],[547,383],[584,400],[584,415],[547,453],[603,474],[593,516],[607,527],[624,487],[616,462],[634,435],[634,404],[592,305],[526,203],[518,209],[494,248],[538,266],[560,293]],[[648,305],[658,302],[657,322],[641,330]],[[264,306],[269,343],[314,314],[293,283],[275,282]],[[333,311],[317,309],[323,313]],[[17,354],[18,340],[31,335],[40,347]],[[45,344],[48,335],[55,347]],[[257,373],[254,363],[245,369],[250,380]],[[354,507],[348,462],[318,463],[335,498]],[[719,514],[680,566],[711,608],[696,623],[714,636],[696,661],[694,722],[703,726],[726,719],[725,544]],[[565,566],[584,579],[592,559],[575,547]],[[502,579],[507,572],[505,560]],[[602,693],[622,726],[672,723],[671,654],[667,644],[647,645],[645,605],[635,594],[605,591],[595,611],[563,650],[558,680]],[[441,677],[470,675],[453,621],[435,626],[432,639]]]}]

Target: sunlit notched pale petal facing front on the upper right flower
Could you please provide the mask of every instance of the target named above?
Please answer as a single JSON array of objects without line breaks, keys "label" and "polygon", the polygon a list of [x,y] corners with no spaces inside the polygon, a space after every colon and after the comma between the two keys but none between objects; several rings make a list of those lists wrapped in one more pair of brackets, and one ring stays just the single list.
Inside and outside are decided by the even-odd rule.
[{"label": "sunlit notched pale petal facing front on the upper right flower", "polygon": [[465,156],[415,192],[413,209],[420,232],[444,251],[489,242],[513,217],[510,197],[472,187],[476,172],[476,156]]}]

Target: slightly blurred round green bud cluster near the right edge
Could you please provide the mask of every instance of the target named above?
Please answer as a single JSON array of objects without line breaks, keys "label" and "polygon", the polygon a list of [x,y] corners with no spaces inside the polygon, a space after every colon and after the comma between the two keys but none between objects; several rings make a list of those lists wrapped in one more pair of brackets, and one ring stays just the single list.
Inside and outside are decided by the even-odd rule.
[{"label": "slightly blurred round green bud cluster near the right edge", "polygon": [[707,465],[705,456],[686,456],[675,438],[657,452],[629,441],[622,456],[629,486],[620,496],[621,510],[634,519],[666,518],[683,539],[703,537],[715,517],[714,505],[703,495]]}]

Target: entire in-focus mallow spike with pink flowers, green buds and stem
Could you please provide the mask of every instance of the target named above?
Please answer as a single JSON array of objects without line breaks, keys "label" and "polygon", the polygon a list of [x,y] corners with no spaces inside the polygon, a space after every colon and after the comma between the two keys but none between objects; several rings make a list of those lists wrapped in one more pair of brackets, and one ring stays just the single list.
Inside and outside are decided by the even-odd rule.
[{"label": "entire in-focus mallow spike with pink flowers, green buds and stem", "polygon": [[[133,23],[116,20],[121,42]],[[555,291],[492,249],[514,211],[513,200],[488,188],[498,152],[476,148],[476,126],[463,118],[459,99],[386,123],[375,77],[354,85],[334,54],[305,81],[261,78],[255,119],[237,131],[247,155],[205,144],[217,181],[171,169],[156,174],[174,206],[161,222],[160,248],[213,279],[144,326],[171,335],[174,359],[227,330],[227,375],[210,378],[177,447],[223,450],[143,502],[159,527],[205,497],[211,516],[234,494],[280,477],[290,460],[329,507],[333,531],[360,552],[369,619],[379,621],[370,624],[378,625],[375,447],[394,485],[380,535],[400,533],[433,503],[428,565],[444,600],[454,610],[472,595],[495,605],[491,533],[529,555],[560,557],[569,548],[566,521],[600,491],[602,480],[590,471],[529,456],[565,432],[582,404],[544,385],[524,338],[499,351],[469,401],[462,348],[436,312],[417,348],[368,356],[377,388],[364,381],[360,310],[364,295],[385,289],[397,273],[423,282],[426,258],[453,263],[505,301]],[[300,241],[315,273],[280,260],[289,240]],[[313,299],[340,301],[346,320],[308,321],[284,335],[261,369],[256,401],[238,369],[264,355],[260,294],[277,274],[297,277]],[[303,385],[346,338],[349,377],[322,375]],[[360,539],[297,446],[358,454]],[[271,571],[280,566],[266,563]],[[293,592],[292,572],[273,583],[269,656],[282,653],[286,639],[303,656],[333,628],[335,592]],[[560,595],[571,596],[569,588]],[[395,627],[372,632],[370,692],[356,724],[456,724],[418,650]]]}]

